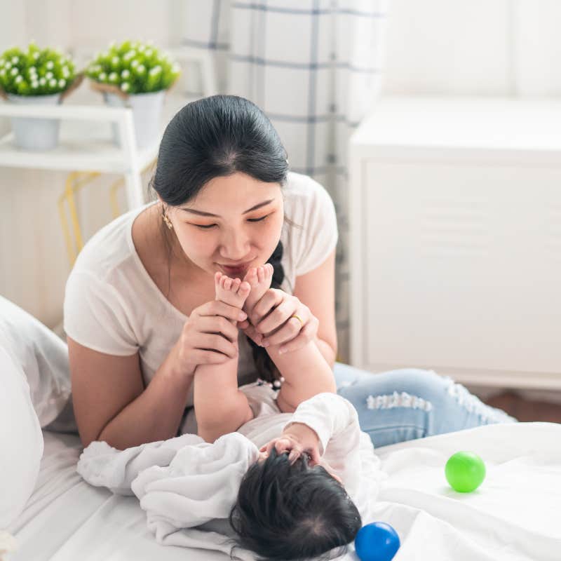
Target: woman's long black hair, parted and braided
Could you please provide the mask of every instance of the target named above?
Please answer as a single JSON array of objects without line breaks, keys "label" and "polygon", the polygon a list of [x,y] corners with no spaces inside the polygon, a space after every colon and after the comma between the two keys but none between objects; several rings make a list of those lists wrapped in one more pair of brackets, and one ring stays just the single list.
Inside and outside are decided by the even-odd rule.
[{"label": "woman's long black hair, parted and braided", "polygon": [[[282,187],[288,174],[287,153],[271,121],[257,105],[236,95],[212,95],[188,103],[168,123],[149,189],[154,189],[165,204],[177,206],[196,197],[214,177],[236,172]],[[285,220],[292,224],[286,216]],[[173,250],[169,236],[173,234],[163,222],[161,232],[169,263]],[[272,288],[280,288],[284,280],[281,257],[283,244],[279,241],[267,260],[274,269]],[[170,276],[168,267],[168,293]],[[248,342],[259,376],[266,381],[280,377],[266,349],[249,337]]]}]

